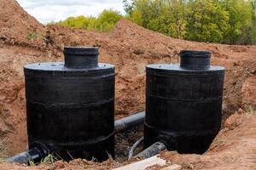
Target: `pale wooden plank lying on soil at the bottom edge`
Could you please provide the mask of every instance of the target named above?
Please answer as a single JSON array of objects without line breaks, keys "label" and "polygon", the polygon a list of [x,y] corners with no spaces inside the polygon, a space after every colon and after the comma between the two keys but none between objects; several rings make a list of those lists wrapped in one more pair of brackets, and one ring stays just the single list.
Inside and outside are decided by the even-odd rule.
[{"label": "pale wooden plank lying on soil at the bottom edge", "polygon": [[153,156],[143,161],[137,161],[135,163],[125,165],[124,167],[118,167],[114,170],[144,170],[147,167],[154,165],[164,166],[166,165],[166,160],[161,159],[159,156]]}]

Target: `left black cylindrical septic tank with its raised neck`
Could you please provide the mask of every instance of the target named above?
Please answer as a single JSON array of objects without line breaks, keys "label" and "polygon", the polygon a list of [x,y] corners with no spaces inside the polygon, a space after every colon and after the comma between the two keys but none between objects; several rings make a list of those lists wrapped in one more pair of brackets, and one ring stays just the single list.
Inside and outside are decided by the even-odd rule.
[{"label": "left black cylindrical septic tank with its raised neck", "polygon": [[65,48],[65,63],[26,65],[30,149],[98,161],[114,156],[114,66],[98,64],[98,48]]}]

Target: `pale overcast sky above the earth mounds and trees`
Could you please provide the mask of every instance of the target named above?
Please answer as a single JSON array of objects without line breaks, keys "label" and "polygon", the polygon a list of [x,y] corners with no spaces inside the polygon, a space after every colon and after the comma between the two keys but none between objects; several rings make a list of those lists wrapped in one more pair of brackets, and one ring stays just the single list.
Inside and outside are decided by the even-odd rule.
[{"label": "pale overcast sky above the earth mounds and trees", "polygon": [[17,0],[27,13],[45,24],[65,20],[69,16],[96,16],[105,8],[113,8],[122,14],[122,0]]}]

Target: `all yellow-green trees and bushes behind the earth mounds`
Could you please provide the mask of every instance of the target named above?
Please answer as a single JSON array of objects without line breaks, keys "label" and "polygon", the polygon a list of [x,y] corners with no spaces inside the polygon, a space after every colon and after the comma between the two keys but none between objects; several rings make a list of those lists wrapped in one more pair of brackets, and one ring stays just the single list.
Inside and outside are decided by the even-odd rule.
[{"label": "all yellow-green trees and bushes behind the earth mounds", "polygon": [[125,16],[104,10],[98,17],[70,17],[55,23],[109,31],[126,18],[170,37],[197,42],[256,43],[256,0],[123,0]]}]

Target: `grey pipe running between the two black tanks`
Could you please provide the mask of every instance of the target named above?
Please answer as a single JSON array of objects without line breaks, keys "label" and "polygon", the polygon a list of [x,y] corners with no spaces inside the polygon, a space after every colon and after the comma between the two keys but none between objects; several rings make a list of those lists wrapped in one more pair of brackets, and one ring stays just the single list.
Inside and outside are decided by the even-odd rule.
[{"label": "grey pipe running between the two black tanks", "polygon": [[136,127],[145,121],[145,111],[138,112],[135,115],[127,116],[114,122],[115,133],[121,133],[125,130]]}]

